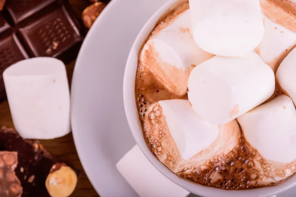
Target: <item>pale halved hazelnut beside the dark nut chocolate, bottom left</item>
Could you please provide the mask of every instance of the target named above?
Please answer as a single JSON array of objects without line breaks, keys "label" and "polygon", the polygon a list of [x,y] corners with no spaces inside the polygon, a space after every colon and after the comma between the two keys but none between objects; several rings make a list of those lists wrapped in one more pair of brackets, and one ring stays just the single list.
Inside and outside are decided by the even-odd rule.
[{"label": "pale halved hazelnut beside the dark nut chocolate, bottom left", "polygon": [[77,184],[77,175],[66,164],[54,164],[45,181],[45,187],[51,197],[69,197]]}]

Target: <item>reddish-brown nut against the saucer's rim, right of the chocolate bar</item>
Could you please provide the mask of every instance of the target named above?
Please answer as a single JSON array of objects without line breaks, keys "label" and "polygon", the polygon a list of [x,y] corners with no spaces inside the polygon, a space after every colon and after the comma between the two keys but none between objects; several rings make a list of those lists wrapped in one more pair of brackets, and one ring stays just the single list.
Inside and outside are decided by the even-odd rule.
[{"label": "reddish-brown nut against the saucer's rim, right of the chocolate bar", "polygon": [[85,8],[85,10],[82,12],[82,20],[84,26],[90,29],[92,24],[95,22],[95,20],[98,18],[105,7],[106,3],[95,2],[94,4]]}]

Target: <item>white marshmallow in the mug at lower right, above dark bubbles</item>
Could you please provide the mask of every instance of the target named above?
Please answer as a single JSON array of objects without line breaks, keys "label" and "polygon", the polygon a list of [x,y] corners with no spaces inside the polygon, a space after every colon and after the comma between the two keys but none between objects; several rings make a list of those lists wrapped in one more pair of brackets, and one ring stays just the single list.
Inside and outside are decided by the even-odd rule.
[{"label": "white marshmallow in the mug at lower right, above dark bubbles", "polygon": [[237,118],[246,140],[266,159],[278,163],[296,160],[296,110],[281,95]]}]

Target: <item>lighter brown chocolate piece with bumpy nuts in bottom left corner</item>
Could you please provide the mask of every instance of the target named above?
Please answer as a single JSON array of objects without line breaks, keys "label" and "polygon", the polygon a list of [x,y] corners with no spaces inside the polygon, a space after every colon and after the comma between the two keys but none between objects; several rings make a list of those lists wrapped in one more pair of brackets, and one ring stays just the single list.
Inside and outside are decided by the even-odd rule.
[{"label": "lighter brown chocolate piece with bumpy nuts in bottom left corner", "polygon": [[0,151],[0,197],[21,197],[21,183],[14,173],[17,164],[16,152]]}]

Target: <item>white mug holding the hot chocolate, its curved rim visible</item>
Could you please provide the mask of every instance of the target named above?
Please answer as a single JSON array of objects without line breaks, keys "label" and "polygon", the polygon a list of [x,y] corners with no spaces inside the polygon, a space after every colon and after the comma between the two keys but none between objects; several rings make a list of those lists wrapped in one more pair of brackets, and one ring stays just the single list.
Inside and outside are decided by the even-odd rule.
[{"label": "white mug holding the hot chocolate, its curved rim visible", "polygon": [[[178,0],[171,0],[165,5],[163,5],[145,24],[140,33],[138,34],[128,57],[124,80],[123,80],[123,101],[126,118],[129,124],[129,127],[132,131],[132,134],[143,151],[148,160],[166,177],[171,179],[176,184],[183,187],[185,190],[191,192],[192,194],[203,196],[203,197],[271,197],[277,195],[281,192],[284,192],[294,186],[296,186],[296,176],[292,176],[283,183],[273,186],[273,187],[263,187],[257,189],[248,189],[248,190],[222,190],[213,187],[207,187],[199,185],[197,183],[187,181],[183,178],[180,178],[173,172],[171,172],[164,164],[162,164],[157,158],[148,149],[142,131],[141,122],[139,119],[139,113],[136,106],[136,97],[135,97],[135,80],[136,72],[138,66],[139,52],[143,43],[147,40],[148,35],[151,33],[155,27],[159,18]],[[145,169],[143,169],[145,170]],[[153,189],[153,188],[151,188]]]}]

